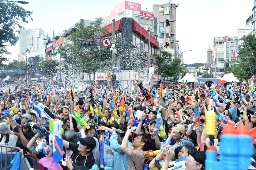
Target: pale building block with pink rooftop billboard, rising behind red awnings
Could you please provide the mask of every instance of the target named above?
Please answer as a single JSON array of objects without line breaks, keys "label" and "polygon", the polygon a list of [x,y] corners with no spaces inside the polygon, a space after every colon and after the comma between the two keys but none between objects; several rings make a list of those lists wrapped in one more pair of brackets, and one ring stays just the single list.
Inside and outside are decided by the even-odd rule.
[{"label": "pale building block with pink rooftop billboard, rising behind red awnings", "polygon": [[[170,26],[167,26],[166,28],[166,23],[164,21],[166,21],[166,19],[176,20],[177,7],[178,4],[166,3],[151,5],[145,10],[142,10],[141,4],[124,1],[111,10],[111,15],[107,16],[104,19],[104,22],[109,23],[112,21],[112,19],[120,20],[121,18],[132,18],[146,31],[150,32],[152,29],[151,35],[153,35],[153,37],[158,40],[162,50],[175,50],[175,22],[170,22]],[[164,23],[159,23],[154,26],[154,24],[158,22]],[[154,28],[152,28],[153,26]],[[145,48],[147,51],[148,47]],[[174,52],[173,54],[176,54],[177,57],[178,53]]]}]

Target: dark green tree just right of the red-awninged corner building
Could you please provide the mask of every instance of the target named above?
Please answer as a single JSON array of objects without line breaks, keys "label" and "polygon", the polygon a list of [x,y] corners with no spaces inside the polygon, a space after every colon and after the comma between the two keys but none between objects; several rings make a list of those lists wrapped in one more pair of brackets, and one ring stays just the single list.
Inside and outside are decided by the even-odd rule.
[{"label": "dark green tree just right of the red-awninged corner building", "polygon": [[180,59],[173,59],[172,54],[166,51],[159,51],[155,54],[156,65],[158,66],[158,74],[165,78],[171,77],[174,81],[178,80],[178,74],[183,73]]}]

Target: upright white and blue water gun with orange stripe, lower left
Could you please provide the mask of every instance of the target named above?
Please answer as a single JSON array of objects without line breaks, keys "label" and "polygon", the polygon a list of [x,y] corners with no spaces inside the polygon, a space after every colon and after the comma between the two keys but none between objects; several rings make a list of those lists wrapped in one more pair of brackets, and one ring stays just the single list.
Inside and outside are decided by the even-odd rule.
[{"label": "upright white and blue water gun with orange stripe, lower left", "polygon": [[[53,158],[55,163],[62,162],[63,161],[63,139],[61,138],[61,135],[63,135],[64,130],[61,128],[63,125],[63,122],[59,119],[50,119],[49,120],[49,143],[52,142],[52,145],[50,146],[53,151]],[[49,154],[50,151],[47,153],[44,151],[44,154]]]}]

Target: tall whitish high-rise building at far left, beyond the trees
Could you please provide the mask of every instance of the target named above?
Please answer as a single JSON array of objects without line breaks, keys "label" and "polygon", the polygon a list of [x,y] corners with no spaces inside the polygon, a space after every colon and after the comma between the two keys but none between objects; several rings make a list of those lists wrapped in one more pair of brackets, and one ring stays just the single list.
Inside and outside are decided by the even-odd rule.
[{"label": "tall whitish high-rise building at far left, beyond the trees", "polygon": [[45,48],[46,38],[44,35],[44,30],[36,28],[26,30],[26,23],[20,23],[22,28],[20,28],[19,34],[19,61],[25,60],[25,53],[29,48],[33,48],[35,51],[40,51]]}]

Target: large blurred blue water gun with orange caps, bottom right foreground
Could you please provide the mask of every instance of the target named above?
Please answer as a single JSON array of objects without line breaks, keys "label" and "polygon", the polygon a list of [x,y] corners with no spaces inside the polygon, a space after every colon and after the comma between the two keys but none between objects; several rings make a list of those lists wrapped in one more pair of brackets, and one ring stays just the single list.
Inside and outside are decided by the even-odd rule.
[{"label": "large blurred blue water gun with orange caps, bottom right foreground", "polygon": [[206,170],[247,170],[252,162],[253,146],[251,140],[252,138],[245,125],[239,125],[237,132],[232,126],[224,125],[221,135],[219,161],[217,161],[216,148],[214,146],[207,146]]}]

